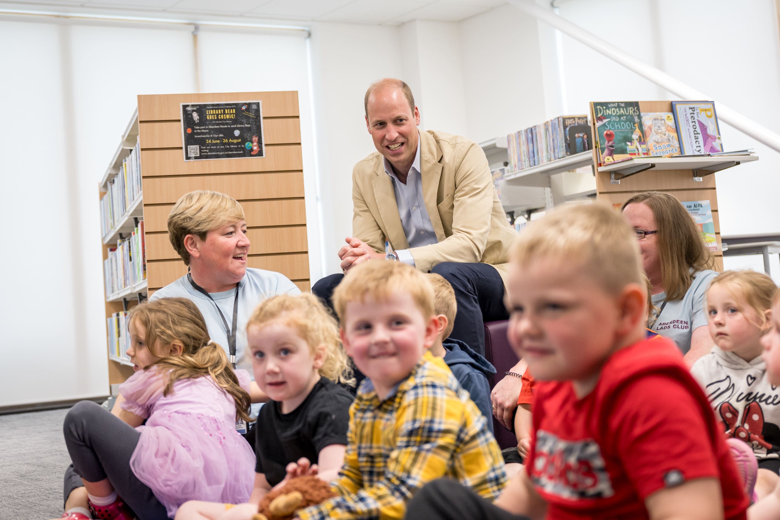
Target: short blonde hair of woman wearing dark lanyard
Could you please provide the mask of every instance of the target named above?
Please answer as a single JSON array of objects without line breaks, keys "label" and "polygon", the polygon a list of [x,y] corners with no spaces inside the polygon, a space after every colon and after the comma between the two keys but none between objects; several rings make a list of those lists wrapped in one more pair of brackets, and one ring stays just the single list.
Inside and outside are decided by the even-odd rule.
[{"label": "short blonde hair of woman wearing dark lanyard", "polygon": [[243,207],[232,196],[206,189],[185,193],[168,214],[168,240],[184,264],[190,265],[190,253],[184,247],[186,235],[205,240],[212,229],[243,218]]}]

